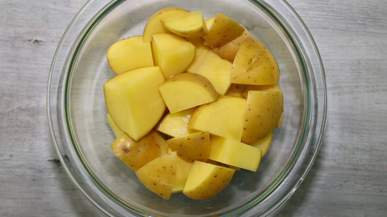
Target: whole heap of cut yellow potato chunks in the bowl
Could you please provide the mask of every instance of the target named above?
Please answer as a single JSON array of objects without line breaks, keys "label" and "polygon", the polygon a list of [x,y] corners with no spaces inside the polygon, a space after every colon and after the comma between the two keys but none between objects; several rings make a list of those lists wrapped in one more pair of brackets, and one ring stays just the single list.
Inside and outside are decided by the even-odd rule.
[{"label": "whole heap of cut yellow potato chunks in the bowl", "polygon": [[257,171],[283,94],[274,57],[243,26],[168,7],[107,59],[116,74],[104,85],[111,149],[149,190],[203,200],[235,171]]}]

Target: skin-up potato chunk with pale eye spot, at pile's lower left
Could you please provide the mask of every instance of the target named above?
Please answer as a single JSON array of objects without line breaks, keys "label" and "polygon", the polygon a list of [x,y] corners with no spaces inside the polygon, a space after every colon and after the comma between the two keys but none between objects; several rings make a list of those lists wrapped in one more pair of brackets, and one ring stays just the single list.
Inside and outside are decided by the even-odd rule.
[{"label": "skin-up potato chunk with pale eye spot, at pile's lower left", "polygon": [[122,134],[110,145],[113,153],[134,171],[141,166],[167,154],[168,145],[156,130],[151,130],[138,141]]}]

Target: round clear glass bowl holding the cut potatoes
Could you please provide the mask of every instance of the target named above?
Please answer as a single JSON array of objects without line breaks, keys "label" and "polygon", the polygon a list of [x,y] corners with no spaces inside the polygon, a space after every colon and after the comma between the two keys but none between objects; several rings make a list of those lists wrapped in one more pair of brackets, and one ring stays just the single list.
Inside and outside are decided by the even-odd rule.
[{"label": "round clear glass bowl holding the cut potatoes", "polygon": [[[164,7],[221,12],[245,26],[277,60],[284,119],[257,172],[237,171],[217,196],[162,199],[110,150],[104,83],[114,76],[106,51],[142,35]],[[54,56],[47,112],[58,156],[79,190],[108,216],[265,216],[301,184],[321,145],[326,116],[323,64],[300,17],[284,0],[90,0],[66,29]]]}]

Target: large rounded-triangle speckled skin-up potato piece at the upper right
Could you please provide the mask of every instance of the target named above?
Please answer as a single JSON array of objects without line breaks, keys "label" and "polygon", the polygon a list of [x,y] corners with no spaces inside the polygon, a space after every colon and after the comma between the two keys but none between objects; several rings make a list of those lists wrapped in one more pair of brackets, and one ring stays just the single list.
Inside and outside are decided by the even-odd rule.
[{"label": "large rounded-triangle speckled skin-up potato piece at the upper right", "polygon": [[242,42],[231,71],[231,83],[277,84],[279,69],[273,55],[257,39],[249,36]]}]

